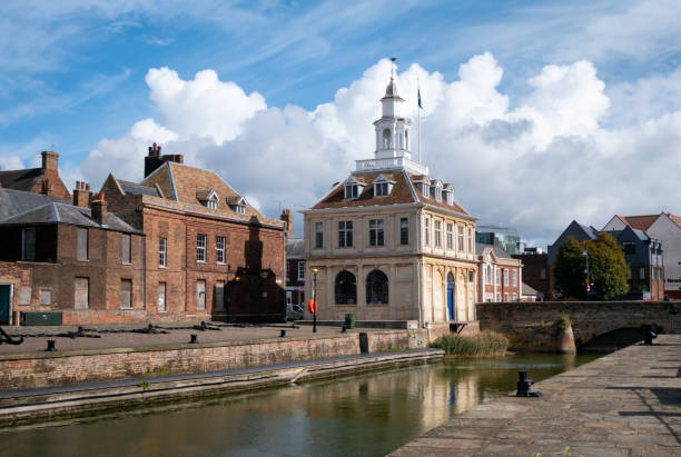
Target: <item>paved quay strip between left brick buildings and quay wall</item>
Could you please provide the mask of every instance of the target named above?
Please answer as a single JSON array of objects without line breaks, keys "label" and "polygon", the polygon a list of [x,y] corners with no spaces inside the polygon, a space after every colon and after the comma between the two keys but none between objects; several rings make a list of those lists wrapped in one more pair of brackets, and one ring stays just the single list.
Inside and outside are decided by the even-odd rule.
[{"label": "paved quay strip between left brick buildings and quay wall", "polygon": [[[47,340],[53,339],[58,351],[111,349],[111,348],[141,348],[184,345],[189,342],[190,335],[196,335],[198,342],[220,341],[251,341],[259,339],[278,338],[282,330],[286,337],[312,338],[339,335],[338,327],[318,326],[313,332],[312,326],[296,326],[288,324],[234,326],[225,322],[206,322],[211,329],[199,330],[193,328],[196,322],[172,322],[155,326],[158,330],[167,332],[142,334],[132,330],[142,330],[142,324],[119,325],[89,325],[83,326],[86,337],[71,338],[68,332],[77,332],[78,326],[36,326],[36,327],[2,327],[12,338],[22,336],[21,345],[0,344],[0,357],[12,354],[45,352]],[[178,327],[185,327],[179,329]],[[358,330],[348,330],[351,332]],[[61,336],[59,336],[61,335]],[[98,338],[96,338],[98,337]]]}]

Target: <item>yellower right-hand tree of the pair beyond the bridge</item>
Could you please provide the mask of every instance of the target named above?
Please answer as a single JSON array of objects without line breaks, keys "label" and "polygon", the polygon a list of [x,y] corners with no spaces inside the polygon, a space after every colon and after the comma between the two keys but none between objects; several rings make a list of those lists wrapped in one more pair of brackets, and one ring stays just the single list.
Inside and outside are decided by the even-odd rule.
[{"label": "yellower right-hand tree of the pair beyond the bridge", "polygon": [[610,300],[629,291],[628,267],[624,252],[608,234],[584,241],[589,250],[589,276],[600,300]]}]

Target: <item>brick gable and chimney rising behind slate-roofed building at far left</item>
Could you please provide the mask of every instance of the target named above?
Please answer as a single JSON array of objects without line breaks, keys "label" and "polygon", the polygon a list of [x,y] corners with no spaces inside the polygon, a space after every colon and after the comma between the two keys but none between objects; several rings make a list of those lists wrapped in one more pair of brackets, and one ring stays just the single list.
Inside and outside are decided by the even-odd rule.
[{"label": "brick gable and chimney rising behind slate-roofed building at far left", "polygon": [[71,196],[59,177],[59,155],[42,151],[41,156],[40,168],[0,171],[0,187],[68,200]]}]

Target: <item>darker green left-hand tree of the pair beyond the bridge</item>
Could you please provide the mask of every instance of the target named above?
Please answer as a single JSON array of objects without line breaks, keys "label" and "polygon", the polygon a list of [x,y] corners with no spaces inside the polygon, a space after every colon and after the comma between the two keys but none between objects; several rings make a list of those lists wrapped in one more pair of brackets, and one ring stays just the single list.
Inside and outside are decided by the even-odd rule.
[{"label": "darker green left-hand tree of the pair beyond the bridge", "polygon": [[553,264],[555,288],[565,297],[585,298],[584,248],[574,237],[568,237],[559,248]]}]

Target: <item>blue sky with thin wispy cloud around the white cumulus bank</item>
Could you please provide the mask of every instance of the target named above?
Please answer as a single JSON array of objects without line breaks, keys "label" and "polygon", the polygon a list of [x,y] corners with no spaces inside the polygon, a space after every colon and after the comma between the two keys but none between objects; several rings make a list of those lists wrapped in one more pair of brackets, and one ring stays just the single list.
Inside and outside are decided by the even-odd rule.
[{"label": "blue sky with thin wispy cloud around the white cumulus bank", "polygon": [[[53,149],[62,157],[61,165],[67,169],[67,178],[85,178],[95,182],[101,177],[89,176],[88,167],[82,163],[96,150],[107,156],[100,143],[102,140],[122,139],[129,135],[131,126],[142,119],[154,119],[159,126],[181,130],[169,120],[172,118],[169,110],[181,110],[182,106],[162,106],[159,102],[162,96],[158,93],[154,99],[155,88],[147,80],[150,69],[167,67],[177,72],[179,81],[191,81],[197,72],[210,69],[220,82],[231,81],[246,95],[261,95],[268,111],[276,108],[284,110],[289,106],[313,116],[323,103],[339,103],[337,91],[352,89],[353,83],[365,80],[365,72],[378,68],[376,66],[381,66],[381,59],[398,57],[399,71],[405,72],[405,78],[411,74],[407,69],[417,64],[434,80],[437,79],[435,74],[440,73],[443,81],[455,83],[462,79],[462,64],[487,52],[503,72],[499,82],[492,86],[495,92],[506,98],[504,111],[496,115],[504,121],[526,112],[524,105],[539,106],[541,97],[536,93],[536,85],[533,86],[531,81],[547,67],[569,68],[585,61],[595,69],[592,79],[603,85],[600,92],[608,98],[608,103],[603,103],[602,109],[585,109],[584,112],[595,112],[592,122],[595,127],[592,125],[590,128],[599,129],[598,132],[589,130],[585,133],[584,126],[576,131],[563,129],[557,133],[554,129],[552,133],[546,133],[552,146],[541,141],[512,148],[551,150],[551,155],[533,158],[541,170],[550,170],[551,163],[556,168],[559,162],[542,165],[549,160],[546,157],[562,160],[572,152],[573,156],[594,153],[603,158],[609,152],[604,147],[591,142],[605,141],[603,137],[621,131],[638,138],[640,135],[636,132],[645,129],[647,122],[662,122],[665,116],[677,115],[681,109],[680,19],[681,10],[675,1],[632,0],[560,3],[276,0],[3,2],[0,6],[0,42],[3,43],[0,46],[0,166],[29,166],[40,150],[51,149],[55,145]],[[593,85],[585,87],[594,88]],[[593,93],[596,92],[598,87],[593,89]],[[355,93],[359,93],[359,90]],[[372,102],[379,96],[371,92]],[[426,102],[430,101],[428,96],[425,93]],[[593,100],[590,97],[584,96],[584,100]],[[251,111],[260,112],[261,108]],[[353,111],[346,112],[352,116]],[[227,110],[225,116],[230,116],[230,111]],[[246,118],[251,119],[250,116],[255,115],[249,113]],[[440,116],[447,113],[442,111]],[[541,120],[532,116],[533,122],[541,125]],[[488,125],[493,120],[485,117],[477,123]],[[247,120],[239,120],[237,125],[247,131],[244,122]],[[286,122],[290,122],[290,119],[287,118]],[[438,121],[432,122],[436,125]],[[565,119],[549,123],[574,125]],[[456,142],[460,127],[433,128],[431,132],[442,133],[441,138],[452,135],[452,141]],[[654,145],[663,142],[673,149],[675,137],[663,135],[670,128],[659,127],[661,133],[650,141]],[[218,139],[214,138],[214,147],[226,148],[226,157],[236,153],[234,151],[239,148],[247,148],[244,131],[238,130],[236,138],[227,140],[219,136]],[[366,131],[357,130],[351,135],[371,139],[372,127],[367,125]],[[575,135],[585,141],[566,146],[565,139]],[[190,159],[197,165],[205,165],[206,158],[213,157],[210,153],[215,151],[205,143],[188,142],[196,140],[196,137],[180,132],[176,147],[194,151],[194,155],[189,153]],[[600,139],[594,139],[596,137]],[[473,147],[471,138],[461,139]],[[438,145],[440,140],[433,138],[428,141]],[[626,142],[624,139],[619,141]],[[560,152],[556,152],[556,148]],[[589,148],[593,152],[589,152],[592,150]],[[632,160],[643,160],[643,152],[640,152],[640,157],[635,151],[631,152]],[[253,150],[251,153],[257,152]],[[364,151],[348,152],[348,157],[366,158],[371,153],[369,145]],[[457,156],[462,163],[473,160],[463,153],[462,150]],[[431,157],[435,160],[436,152],[431,151]],[[516,160],[525,166],[530,159],[523,156]],[[352,160],[338,165],[347,171],[352,169]],[[524,230],[529,238],[540,241],[549,239],[559,226],[566,226],[570,220],[564,219],[569,213],[574,213],[575,218],[596,219],[583,222],[598,225],[604,223],[613,212],[681,211],[681,208],[669,206],[661,208],[660,205],[665,205],[665,201],[647,206],[641,200],[629,207],[618,201],[620,207],[610,208],[603,207],[599,200],[588,210],[570,207],[571,211],[555,215],[560,223],[546,223],[539,229],[532,221],[536,221],[541,208],[533,210],[534,216],[520,219],[516,215],[523,211],[521,207],[515,207],[513,211],[491,209],[490,202],[499,200],[499,192],[509,191],[521,181],[507,182],[504,188],[497,188],[483,198],[477,195],[480,189],[475,190],[474,196],[471,188],[485,177],[467,180],[460,175],[462,168],[465,167],[452,169],[451,179],[455,183],[456,179],[461,180],[465,187],[461,197],[468,199],[468,205],[463,201],[468,210],[478,213],[487,223],[516,225],[521,232]],[[477,169],[474,163],[468,168]],[[254,173],[257,171],[257,167],[253,169]],[[493,176],[494,171],[490,171]],[[227,170],[226,173],[229,175]],[[227,178],[229,180],[229,176]],[[308,207],[328,185],[319,182],[309,188],[310,197],[307,199],[297,196],[285,200],[294,209]],[[241,188],[246,187],[244,193],[260,200],[263,210],[274,216],[273,207],[265,202],[269,201],[269,196],[258,193],[249,186],[248,182],[241,183]],[[650,186],[651,192],[667,191],[657,189],[652,181]],[[621,191],[620,188],[609,190],[618,195]],[[286,193],[285,189],[277,192]],[[576,195],[579,189],[573,193]],[[612,197],[611,193],[608,196]],[[673,197],[672,193],[669,205],[678,205]],[[557,192],[556,198],[570,196]],[[601,213],[602,217],[598,216]]]}]

